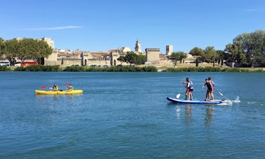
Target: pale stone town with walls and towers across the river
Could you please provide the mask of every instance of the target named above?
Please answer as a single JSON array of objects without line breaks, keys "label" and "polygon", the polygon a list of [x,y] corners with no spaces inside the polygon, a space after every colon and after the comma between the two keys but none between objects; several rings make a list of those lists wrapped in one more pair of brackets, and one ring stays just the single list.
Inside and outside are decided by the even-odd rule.
[{"label": "pale stone town with walls and towers across the river", "polygon": [[[16,38],[20,41],[22,38]],[[88,67],[109,67],[109,66],[120,66],[129,65],[129,63],[118,60],[118,57],[125,56],[128,53],[135,53],[137,55],[144,55],[147,58],[145,65],[152,65],[156,67],[173,67],[170,55],[173,53],[173,46],[165,46],[165,54],[161,54],[160,48],[145,48],[142,50],[140,40],[137,39],[135,42],[134,50],[128,47],[121,47],[111,49],[108,51],[90,52],[88,50],[69,50],[55,48],[55,43],[52,39],[43,37],[39,39],[46,41],[48,46],[53,49],[51,55],[44,58],[44,65],[59,65],[60,67],[68,67],[73,65],[88,66]],[[195,62],[196,56],[187,54],[186,58],[181,63],[192,63]],[[19,62],[19,60],[16,60]],[[32,61],[33,60],[25,60]],[[8,62],[5,57],[1,57],[0,62]]]}]

